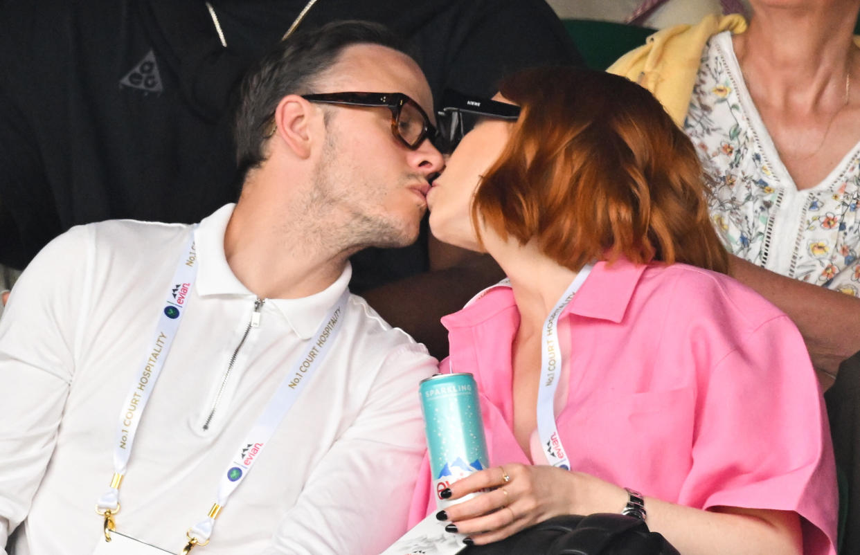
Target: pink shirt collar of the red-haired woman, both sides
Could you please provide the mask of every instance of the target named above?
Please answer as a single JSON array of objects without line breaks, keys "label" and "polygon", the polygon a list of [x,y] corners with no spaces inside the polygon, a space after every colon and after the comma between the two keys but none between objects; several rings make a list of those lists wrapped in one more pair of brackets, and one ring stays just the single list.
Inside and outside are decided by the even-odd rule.
[{"label": "pink shirt collar of the red-haired woman, both sides", "polygon": [[[598,262],[562,315],[577,314],[598,320],[621,322],[636,290],[636,284],[647,267],[648,265],[633,264],[627,259],[617,259],[611,265],[605,261]],[[476,326],[515,303],[510,288],[494,286],[480,300],[467,305],[459,312],[445,316],[442,324],[449,331],[456,327]]]}]

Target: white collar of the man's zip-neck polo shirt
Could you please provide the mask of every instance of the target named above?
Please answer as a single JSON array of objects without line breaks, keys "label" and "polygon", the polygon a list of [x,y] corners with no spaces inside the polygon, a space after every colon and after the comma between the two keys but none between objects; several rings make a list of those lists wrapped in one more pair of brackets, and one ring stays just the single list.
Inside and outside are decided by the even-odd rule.
[{"label": "white collar of the man's zip-neck polo shirt", "polygon": [[[195,286],[200,296],[256,298],[233,274],[224,255],[224,233],[235,206],[236,204],[225,204],[204,218],[194,231],[194,244],[200,264]],[[319,293],[298,299],[266,299],[266,304],[278,308],[299,338],[308,339],[316,332],[329,308],[347,289],[352,275],[352,266],[347,263],[341,276]]]}]

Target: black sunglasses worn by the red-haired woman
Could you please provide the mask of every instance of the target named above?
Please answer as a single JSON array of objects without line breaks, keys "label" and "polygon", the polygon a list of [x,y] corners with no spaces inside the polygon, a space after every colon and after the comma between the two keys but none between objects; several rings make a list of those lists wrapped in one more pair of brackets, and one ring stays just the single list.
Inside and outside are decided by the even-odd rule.
[{"label": "black sunglasses worn by the red-haired woman", "polygon": [[516,121],[519,106],[491,101],[480,96],[464,95],[447,89],[442,94],[439,116],[439,150],[451,152],[457,148],[463,136],[471,131],[479,118],[495,118]]}]

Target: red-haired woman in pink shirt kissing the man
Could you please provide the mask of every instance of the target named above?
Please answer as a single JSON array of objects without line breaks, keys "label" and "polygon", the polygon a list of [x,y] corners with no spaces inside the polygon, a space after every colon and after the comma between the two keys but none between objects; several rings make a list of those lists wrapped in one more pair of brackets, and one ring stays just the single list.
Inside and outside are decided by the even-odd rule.
[{"label": "red-haired woman in pink shirt kissing the man", "polygon": [[[528,70],[497,100],[519,119],[479,120],[427,197],[433,234],[485,250],[510,280],[443,319],[441,370],[475,375],[494,467],[440,495],[494,490],[437,517],[484,544],[554,515],[636,514],[641,492],[679,552],[835,553],[802,338],[719,273],[683,132],[604,73]],[[434,496],[425,466],[412,521]]]}]

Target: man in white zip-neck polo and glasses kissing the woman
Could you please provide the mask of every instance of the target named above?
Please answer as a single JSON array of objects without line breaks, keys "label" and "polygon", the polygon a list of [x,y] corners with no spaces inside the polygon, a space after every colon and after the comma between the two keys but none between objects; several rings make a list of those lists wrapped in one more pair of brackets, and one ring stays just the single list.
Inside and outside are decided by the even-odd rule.
[{"label": "man in white zip-neck polo and glasses kissing the woman", "polygon": [[350,254],[415,240],[443,165],[398,47],[359,22],[294,35],[243,87],[235,209],[89,224],[34,259],[0,321],[0,546],[22,522],[7,549],[33,555],[378,553],[402,534],[435,365],[345,295]]}]

